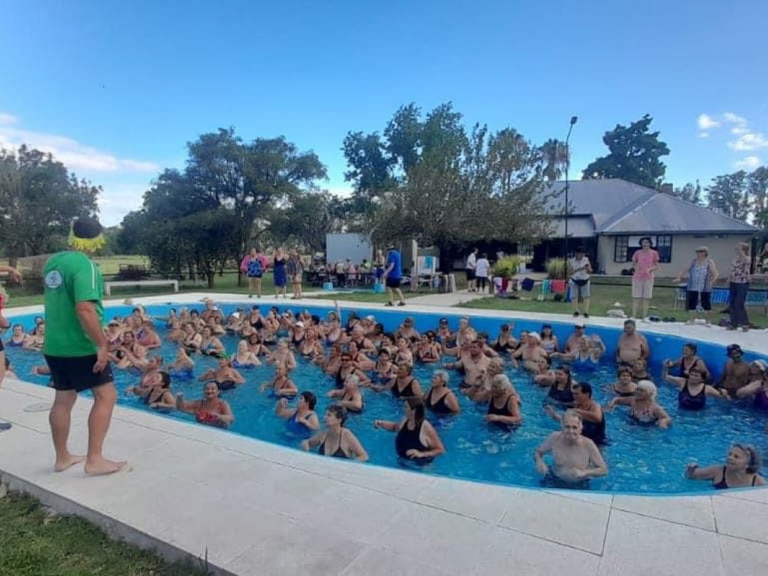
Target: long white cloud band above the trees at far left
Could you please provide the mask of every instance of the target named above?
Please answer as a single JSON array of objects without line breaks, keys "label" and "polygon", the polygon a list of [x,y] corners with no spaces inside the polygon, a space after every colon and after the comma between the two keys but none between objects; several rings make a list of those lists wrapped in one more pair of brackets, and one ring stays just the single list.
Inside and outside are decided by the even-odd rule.
[{"label": "long white cloud band above the trees at far left", "polygon": [[43,152],[53,154],[70,170],[84,172],[156,172],[157,164],[118,158],[114,154],[99,151],[94,147],[58,134],[47,134],[12,127],[18,120],[12,115],[0,112],[0,147],[19,147],[27,144]]}]

